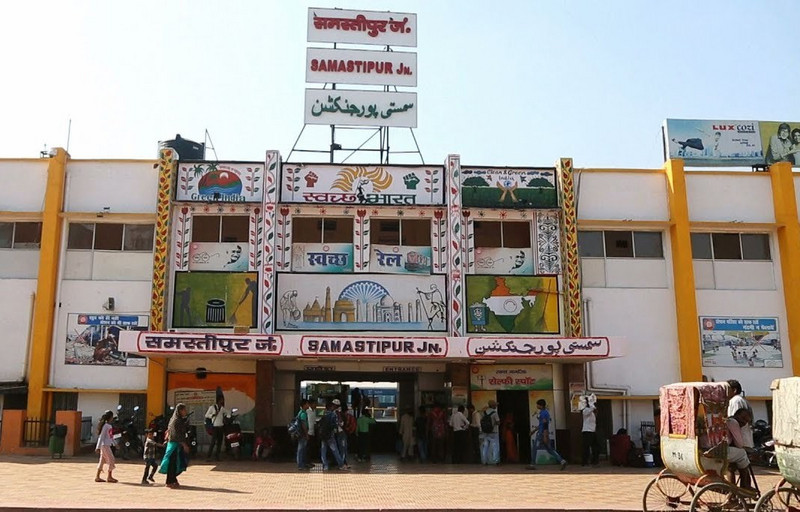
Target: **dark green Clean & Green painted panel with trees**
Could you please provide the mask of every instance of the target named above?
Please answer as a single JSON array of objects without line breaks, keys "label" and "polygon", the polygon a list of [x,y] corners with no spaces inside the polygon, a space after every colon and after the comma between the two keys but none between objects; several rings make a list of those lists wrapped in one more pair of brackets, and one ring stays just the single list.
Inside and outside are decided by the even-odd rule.
[{"label": "dark green Clean & Green painted panel with trees", "polygon": [[556,171],[462,167],[461,195],[465,207],[558,208]]}]

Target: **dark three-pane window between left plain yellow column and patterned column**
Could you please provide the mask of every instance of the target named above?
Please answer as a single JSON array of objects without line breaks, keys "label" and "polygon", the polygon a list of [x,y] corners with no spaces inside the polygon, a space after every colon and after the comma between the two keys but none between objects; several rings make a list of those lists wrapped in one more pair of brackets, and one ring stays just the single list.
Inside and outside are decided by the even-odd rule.
[{"label": "dark three-pane window between left plain yellow column and patterned column", "polygon": [[67,233],[67,249],[97,251],[153,250],[152,224],[72,223]]}]

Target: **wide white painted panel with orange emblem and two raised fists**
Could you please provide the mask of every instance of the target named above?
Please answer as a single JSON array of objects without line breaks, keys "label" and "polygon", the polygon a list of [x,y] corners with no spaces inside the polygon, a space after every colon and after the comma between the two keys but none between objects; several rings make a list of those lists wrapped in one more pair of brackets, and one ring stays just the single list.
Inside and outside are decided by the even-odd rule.
[{"label": "wide white painted panel with orange emblem and two raised fists", "polygon": [[351,206],[443,204],[441,167],[284,164],[281,201]]}]

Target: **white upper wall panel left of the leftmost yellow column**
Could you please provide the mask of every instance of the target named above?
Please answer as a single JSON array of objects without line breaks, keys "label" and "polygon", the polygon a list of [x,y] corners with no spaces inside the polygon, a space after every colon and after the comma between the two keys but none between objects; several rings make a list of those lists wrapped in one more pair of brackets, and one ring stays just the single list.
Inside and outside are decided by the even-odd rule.
[{"label": "white upper wall panel left of the leftmost yellow column", "polygon": [[[40,212],[47,188],[47,158],[41,160],[0,160],[0,210]],[[13,183],[13,186],[11,185]]]}]

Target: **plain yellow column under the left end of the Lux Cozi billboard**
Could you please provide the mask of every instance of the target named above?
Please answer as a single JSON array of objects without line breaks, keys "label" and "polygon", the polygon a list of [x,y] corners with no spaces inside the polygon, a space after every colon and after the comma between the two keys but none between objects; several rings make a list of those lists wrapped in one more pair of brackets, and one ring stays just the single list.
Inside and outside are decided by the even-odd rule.
[{"label": "plain yellow column under the left end of the Lux Cozi billboard", "polygon": [[700,328],[692,266],[692,239],[689,231],[689,202],[686,198],[686,175],[683,160],[669,160],[664,165],[669,197],[669,240],[672,247],[672,276],[675,284],[675,313],[678,328],[678,353],[681,380],[699,382]]}]

